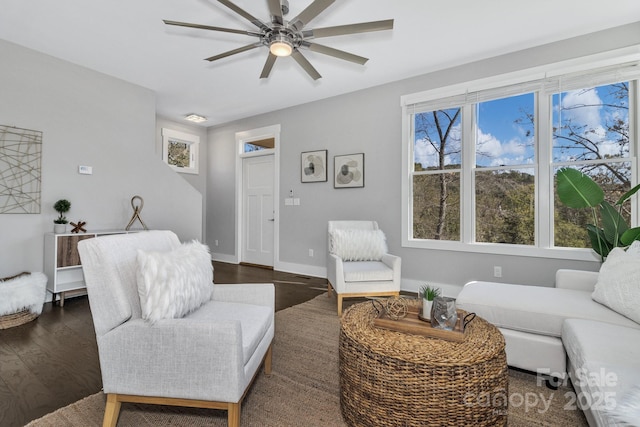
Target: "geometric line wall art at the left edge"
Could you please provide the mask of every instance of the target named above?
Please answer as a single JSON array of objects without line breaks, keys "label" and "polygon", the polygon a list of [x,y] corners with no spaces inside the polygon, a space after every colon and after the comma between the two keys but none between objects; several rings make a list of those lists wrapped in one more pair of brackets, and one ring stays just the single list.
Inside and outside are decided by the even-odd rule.
[{"label": "geometric line wall art at the left edge", "polygon": [[40,213],[42,132],[0,125],[0,213]]}]

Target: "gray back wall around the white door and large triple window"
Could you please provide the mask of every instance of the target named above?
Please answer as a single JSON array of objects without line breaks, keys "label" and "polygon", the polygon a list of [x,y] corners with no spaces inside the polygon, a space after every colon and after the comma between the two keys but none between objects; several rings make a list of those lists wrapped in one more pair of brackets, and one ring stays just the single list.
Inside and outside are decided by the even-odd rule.
[{"label": "gray back wall around the white door and large triple window", "polygon": [[[221,259],[235,254],[235,132],[280,124],[281,228],[276,268],[281,263],[298,265],[302,273],[322,270],[328,220],[375,219],[387,235],[390,252],[402,257],[405,289],[415,289],[426,281],[461,286],[470,280],[550,286],[558,268],[596,270],[596,262],[401,247],[400,97],[638,44],[640,23],[635,23],[212,127],[207,241],[219,241],[219,247],[212,250]],[[322,90],[322,84],[317,90]],[[300,183],[300,153],[320,149],[329,150],[330,175],[333,156],[365,153],[365,187],[334,189],[331,178],[326,183]],[[300,206],[284,205],[291,189],[301,199]],[[308,256],[308,249],[314,249],[314,257]],[[502,266],[502,278],[493,277],[494,265]]]}]

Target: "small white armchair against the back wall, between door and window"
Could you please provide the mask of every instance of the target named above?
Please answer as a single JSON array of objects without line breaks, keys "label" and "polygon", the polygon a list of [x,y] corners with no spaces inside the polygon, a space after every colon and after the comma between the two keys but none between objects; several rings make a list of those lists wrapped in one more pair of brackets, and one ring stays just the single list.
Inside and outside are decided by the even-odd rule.
[{"label": "small white armchair against the back wall, between door and window", "polygon": [[[355,232],[354,232],[355,230]],[[336,239],[336,233],[352,233],[348,248],[352,259],[343,259],[345,239]],[[359,233],[362,231],[364,233]],[[372,233],[368,233],[372,232]],[[369,234],[369,236],[367,236]],[[373,236],[373,239],[369,237]],[[377,239],[382,236],[382,250]],[[376,246],[371,251],[368,246]],[[397,296],[400,294],[401,259],[387,253],[384,234],[376,221],[329,221],[328,226],[327,279],[328,296],[335,291],[338,316],[342,315],[342,300],[354,297]],[[359,254],[359,252],[361,252]],[[378,255],[371,256],[372,252]]]}]

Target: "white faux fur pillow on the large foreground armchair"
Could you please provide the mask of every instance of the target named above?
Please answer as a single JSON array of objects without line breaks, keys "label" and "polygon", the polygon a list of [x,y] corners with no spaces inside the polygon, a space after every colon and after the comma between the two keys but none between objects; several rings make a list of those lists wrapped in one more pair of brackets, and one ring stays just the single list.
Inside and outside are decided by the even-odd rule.
[{"label": "white faux fur pillow on the large foreground armchair", "polygon": [[183,317],[213,294],[209,248],[194,240],[169,252],[138,250],[137,281],[143,319]]}]

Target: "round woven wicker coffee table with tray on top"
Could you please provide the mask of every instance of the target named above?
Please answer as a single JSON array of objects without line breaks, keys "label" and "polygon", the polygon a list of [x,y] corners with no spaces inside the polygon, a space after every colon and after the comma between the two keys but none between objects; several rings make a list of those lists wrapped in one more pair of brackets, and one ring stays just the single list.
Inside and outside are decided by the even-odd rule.
[{"label": "round woven wicker coffee table with tray on top", "polygon": [[[408,300],[418,305],[417,300]],[[372,302],[340,328],[340,406],[350,426],[505,426],[504,337],[484,319],[463,342],[376,328]]]}]

